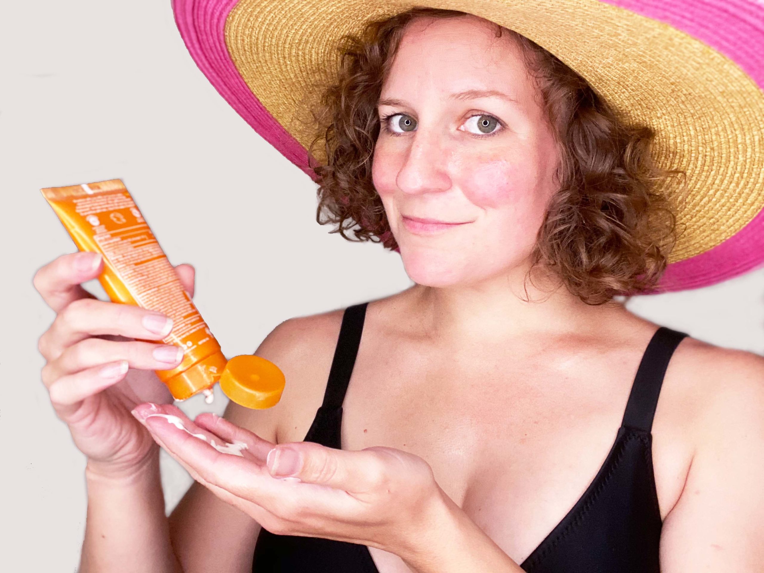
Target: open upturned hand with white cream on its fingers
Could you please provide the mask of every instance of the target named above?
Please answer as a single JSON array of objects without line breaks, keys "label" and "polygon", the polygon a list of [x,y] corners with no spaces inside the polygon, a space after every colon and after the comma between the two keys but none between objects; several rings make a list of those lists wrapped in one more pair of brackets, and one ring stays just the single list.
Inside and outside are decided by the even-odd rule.
[{"label": "open upturned hand with white cream on its fingers", "polygon": [[212,413],[192,422],[172,405],[143,403],[133,414],[196,481],[270,533],[401,555],[416,551],[412,544],[435,531],[443,514],[445,492],[432,468],[408,452],[274,445]]}]

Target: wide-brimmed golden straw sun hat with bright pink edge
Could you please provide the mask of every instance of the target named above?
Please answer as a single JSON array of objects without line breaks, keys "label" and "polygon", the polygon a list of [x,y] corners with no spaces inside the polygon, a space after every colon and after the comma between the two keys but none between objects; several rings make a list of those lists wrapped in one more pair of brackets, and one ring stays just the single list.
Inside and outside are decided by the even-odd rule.
[{"label": "wide-brimmed golden straw sun hat with bright pink edge", "polygon": [[[338,70],[338,40],[413,6],[460,10],[523,34],[588,81],[651,154],[687,171],[669,195],[683,229],[659,290],[707,286],[764,262],[764,0],[173,0],[215,89],[311,177],[296,121]],[[314,157],[321,161],[322,158]]]}]

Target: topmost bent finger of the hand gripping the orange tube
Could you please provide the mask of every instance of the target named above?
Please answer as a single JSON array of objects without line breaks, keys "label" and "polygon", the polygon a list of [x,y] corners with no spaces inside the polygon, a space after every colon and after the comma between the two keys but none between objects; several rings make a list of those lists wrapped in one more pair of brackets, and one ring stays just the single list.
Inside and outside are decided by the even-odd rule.
[{"label": "topmost bent finger of the hand gripping the orange tube", "polygon": [[32,284],[47,306],[59,312],[74,300],[95,298],[80,283],[98,277],[102,265],[103,259],[96,253],[78,251],[64,254],[40,267],[34,274]]}]

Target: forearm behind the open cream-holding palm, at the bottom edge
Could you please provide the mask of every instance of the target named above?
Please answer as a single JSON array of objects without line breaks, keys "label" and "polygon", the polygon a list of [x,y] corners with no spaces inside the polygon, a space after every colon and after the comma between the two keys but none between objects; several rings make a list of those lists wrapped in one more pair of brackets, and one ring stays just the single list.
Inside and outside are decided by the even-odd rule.
[{"label": "forearm behind the open cream-holding palm, at the bottom edge", "polygon": [[443,494],[429,526],[416,542],[399,555],[413,573],[523,573],[461,507]]}]

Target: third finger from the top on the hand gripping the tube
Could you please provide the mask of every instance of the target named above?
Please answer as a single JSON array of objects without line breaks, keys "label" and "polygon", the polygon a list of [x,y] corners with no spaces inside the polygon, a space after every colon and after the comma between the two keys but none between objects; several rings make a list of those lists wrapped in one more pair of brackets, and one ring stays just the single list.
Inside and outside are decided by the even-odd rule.
[{"label": "third finger from the top on the hand gripping the tube", "polygon": [[[167,353],[163,349],[167,349]],[[157,358],[158,357],[158,358]],[[131,368],[141,370],[170,370],[183,359],[183,347],[154,342],[114,342],[103,338],[85,338],[64,348],[58,358],[42,369],[45,386],[68,374],[106,362],[126,360]]]}]

